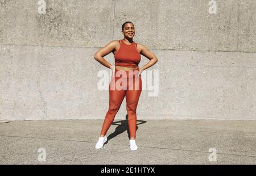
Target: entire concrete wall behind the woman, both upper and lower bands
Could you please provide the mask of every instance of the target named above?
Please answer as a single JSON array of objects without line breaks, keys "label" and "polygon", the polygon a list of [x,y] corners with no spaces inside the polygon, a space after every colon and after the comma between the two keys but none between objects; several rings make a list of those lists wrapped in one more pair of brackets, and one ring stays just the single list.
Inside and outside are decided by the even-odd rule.
[{"label": "entire concrete wall behind the woman, both upper and lower bands", "polygon": [[0,0],[0,120],[105,118],[97,74],[109,69],[93,55],[127,20],[159,58],[143,75],[159,71],[158,96],[142,91],[138,119],[256,120],[256,1],[216,1],[217,14],[209,1],[49,0],[40,14],[37,0]]}]

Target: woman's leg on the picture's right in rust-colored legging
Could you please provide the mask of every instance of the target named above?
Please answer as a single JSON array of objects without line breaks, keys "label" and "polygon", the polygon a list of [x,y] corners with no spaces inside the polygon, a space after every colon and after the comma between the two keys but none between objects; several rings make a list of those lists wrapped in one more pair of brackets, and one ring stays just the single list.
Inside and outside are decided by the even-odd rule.
[{"label": "woman's leg on the picture's right in rust-colored legging", "polygon": [[[128,125],[130,132],[130,139],[135,139],[135,134],[137,130],[137,115],[136,109],[139,102],[139,97],[142,91],[142,80],[141,76],[137,76],[138,72],[135,72],[133,79],[130,82],[133,82],[132,85],[129,83],[129,87],[126,91],[126,110],[128,114]],[[128,82],[127,82],[128,83]]]}]

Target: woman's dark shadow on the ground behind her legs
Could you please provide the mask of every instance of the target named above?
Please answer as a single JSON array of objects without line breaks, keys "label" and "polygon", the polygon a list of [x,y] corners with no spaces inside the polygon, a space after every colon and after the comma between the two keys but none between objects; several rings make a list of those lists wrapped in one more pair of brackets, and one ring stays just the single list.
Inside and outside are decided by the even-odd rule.
[{"label": "woman's dark shadow on the ground behind her legs", "polygon": [[[117,135],[119,135],[119,134],[121,134],[125,131],[127,131],[127,135],[130,139],[130,132],[129,132],[129,126],[128,126],[128,123],[127,123],[127,119],[128,119],[128,115],[126,114],[126,120],[114,121],[112,123],[113,125],[117,125],[117,128],[115,128],[115,131],[108,136],[108,140],[112,139],[113,137],[115,137],[115,136],[117,136]],[[144,120],[137,120],[137,121],[139,121],[140,123],[137,123],[136,131],[139,128],[138,125],[147,122],[147,121],[144,121]],[[118,123],[120,123],[120,124],[118,124]]]}]

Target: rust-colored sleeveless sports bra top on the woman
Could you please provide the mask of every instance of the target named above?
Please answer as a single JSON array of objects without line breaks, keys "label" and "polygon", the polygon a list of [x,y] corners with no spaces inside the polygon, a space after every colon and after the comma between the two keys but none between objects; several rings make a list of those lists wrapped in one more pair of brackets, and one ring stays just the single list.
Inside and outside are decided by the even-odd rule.
[{"label": "rust-colored sleeveless sports bra top on the woman", "polygon": [[126,44],[123,39],[119,40],[121,46],[115,52],[115,66],[137,67],[141,61],[141,54],[137,51],[137,43]]}]

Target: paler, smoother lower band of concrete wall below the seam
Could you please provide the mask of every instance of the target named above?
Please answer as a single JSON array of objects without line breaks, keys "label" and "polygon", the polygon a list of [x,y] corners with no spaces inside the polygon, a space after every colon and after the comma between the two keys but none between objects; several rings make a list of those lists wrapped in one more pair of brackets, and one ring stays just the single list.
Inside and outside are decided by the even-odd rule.
[{"label": "paler, smoother lower band of concrete wall below the seam", "polygon": [[[89,59],[96,49],[0,48],[1,120],[105,118],[109,92],[97,89],[97,72],[105,70],[110,81],[110,70]],[[159,92],[142,90],[138,119],[256,119],[256,53],[154,52],[161,58],[150,68],[159,70]],[[125,106],[124,99],[115,118],[126,115]]]}]

